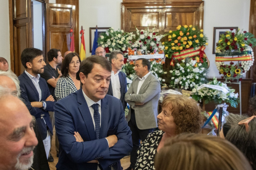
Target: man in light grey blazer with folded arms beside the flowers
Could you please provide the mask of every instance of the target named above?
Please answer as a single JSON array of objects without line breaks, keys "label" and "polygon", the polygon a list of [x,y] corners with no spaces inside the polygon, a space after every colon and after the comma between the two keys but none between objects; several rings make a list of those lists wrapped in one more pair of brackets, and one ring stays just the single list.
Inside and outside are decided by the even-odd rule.
[{"label": "man in light grey blazer with folded arms beside the flowers", "polygon": [[160,82],[150,72],[150,62],[147,59],[137,59],[134,70],[137,77],[132,81],[125,97],[130,105],[127,121],[132,131],[133,145],[130,153],[130,167],[127,170],[135,168],[140,140],[143,142],[157,127],[156,116],[161,92]]}]

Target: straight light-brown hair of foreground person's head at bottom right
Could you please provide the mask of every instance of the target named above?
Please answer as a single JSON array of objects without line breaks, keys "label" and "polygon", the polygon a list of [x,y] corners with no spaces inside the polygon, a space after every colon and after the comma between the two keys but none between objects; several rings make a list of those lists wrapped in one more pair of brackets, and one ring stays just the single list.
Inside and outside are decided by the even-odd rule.
[{"label": "straight light-brown hair of foreground person's head at bottom right", "polygon": [[156,154],[156,170],[252,170],[228,140],[205,134],[180,134]]}]

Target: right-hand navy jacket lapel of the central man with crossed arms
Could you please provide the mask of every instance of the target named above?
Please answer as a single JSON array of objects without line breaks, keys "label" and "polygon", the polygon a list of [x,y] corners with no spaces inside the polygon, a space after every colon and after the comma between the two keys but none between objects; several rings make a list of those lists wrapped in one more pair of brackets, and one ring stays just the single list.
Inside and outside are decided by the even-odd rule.
[{"label": "right-hand navy jacket lapel of the central man with crossed arms", "polygon": [[100,127],[100,139],[104,138],[108,134],[108,119],[109,108],[106,99],[101,100],[101,127]]}]

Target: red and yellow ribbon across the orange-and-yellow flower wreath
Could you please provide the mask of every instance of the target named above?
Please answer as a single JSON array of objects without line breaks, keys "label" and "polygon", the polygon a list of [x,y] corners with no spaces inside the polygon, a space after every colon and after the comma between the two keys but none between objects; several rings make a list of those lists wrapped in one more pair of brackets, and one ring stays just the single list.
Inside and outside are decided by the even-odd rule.
[{"label": "red and yellow ribbon across the orange-and-yellow flower wreath", "polygon": [[186,49],[184,51],[179,52],[174,52],[170,65],[174,66],[174,60],[182,60],[186,59],[187,57],[194,57],[195,55],[199,55],[199,59],[201,63],[203,63],[203,58],[207,59],[207,55],[205,55],[205,46],[199,47],[199,49],[195,50],[193,47],[190,49]]}]

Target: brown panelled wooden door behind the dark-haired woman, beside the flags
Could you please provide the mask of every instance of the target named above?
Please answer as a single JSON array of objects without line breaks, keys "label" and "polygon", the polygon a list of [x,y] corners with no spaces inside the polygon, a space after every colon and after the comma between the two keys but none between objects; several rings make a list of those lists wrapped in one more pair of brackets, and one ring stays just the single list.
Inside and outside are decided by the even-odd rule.
[{"label": "brown panelled wooden door behind the dark-haired woman, beside the flags", "polygon": [[[53,48],[60,49],[62,55],[69,51],[70,28],[73,29],[74,34],[79,34],[75,22],[75,6],[46,4],[46,51]],[[79,49],[76,48],[75,52],[79,52]],[[48,62],[47,57],[46,62]]]}]

